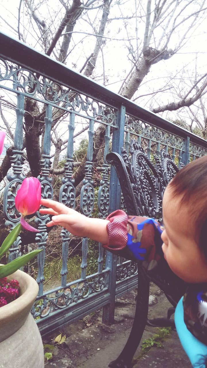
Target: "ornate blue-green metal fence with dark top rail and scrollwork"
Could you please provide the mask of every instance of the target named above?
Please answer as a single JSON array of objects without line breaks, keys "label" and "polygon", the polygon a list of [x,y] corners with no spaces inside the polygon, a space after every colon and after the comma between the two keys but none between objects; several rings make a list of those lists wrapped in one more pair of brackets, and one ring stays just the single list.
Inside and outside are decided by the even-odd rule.
[{"label": "ornate blue-green metal fence with dark top rail and scrollwork", "polygon": [[[59,191],[59,201],[74,208],[76,190],[74,187],[73,141],[74,130],[84,121],[88,122],[88,149],[85,162],[85,176],[80,190],[80,211],[85,216],[92,216],[94,210],[95,188],[93,173],[93,138],[98,126],[104,126],[104,153],[102,165],[99,167],[102,178],[97,190],[98,216],[105,218],[108,212],[120,208],[120,185],[113,167],[106,162],[109,152],[109,141],[112,140],[112,151],[120,153],[125,145],[129,153],[129,141],[136,138],[153,160],[153,154],[159,157],[160,150],[165,148],[173,160],[180,166],[191,159],[205,155],[207,142],[196,135],[166,121],[155,114],[137,106],[135,103],[108,91],[105,87],[74,72],[57,61],[50,59],[0,33],[0,88],[1,94],[6,93],[8,99],[16,99],[16,127],[14,149],[10,157],[12,171],[8,173],[4,190],[4,216],[6,226],[14,227],[19,221],[15,210],[14,198],[16,191],[24,179],[24,103],[30,99],[36,101],[44,111],[45,134],[41,157],[42,196],[53,197],[52,178],[50,176],[51,162],[51,129],[55,114],[67,112],[68,144],[65,160],[65,171],[62,186]],[[60,114],[59,114],[60,116]],[[109,184],[110,174],[110,184]],[[109,196],[110,193],[110,196]],[[87,252],[88,239],[82,240],[82,262],[80,277],[77,280],[67,279],[68,252],[70,234],[62,230],[60,247],[62,245],[61,282],[52,290],[43,287],[45,248],[48,237],[46,222],[48,216],[36,213],[35,222],[38,226],[36,244],[43,251],[38,255],[39,296],[33,308],[38,327],[42,333],[52,332],[66,322],[73,322],[92,311],[103,307],[103,320],[112,322],[114,316],[115,295],[131,290],[137,283],[137,267],[133,262],[124,262],[115,255],[103,254],[99,244],[97,271],[88,275]],[[20,254],[21,238],[10,248],[9,261]],[[105,263],[104,263],[105,260]]]}]

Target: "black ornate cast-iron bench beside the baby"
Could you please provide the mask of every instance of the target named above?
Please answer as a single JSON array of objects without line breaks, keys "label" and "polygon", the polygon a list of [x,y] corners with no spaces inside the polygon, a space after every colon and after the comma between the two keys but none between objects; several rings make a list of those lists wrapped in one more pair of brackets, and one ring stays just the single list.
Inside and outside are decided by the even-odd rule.
[{"label": "black ornate cast-iron bench beside the baby", "polygon": [[[166,185],[173,178],[178,166],[171,156],[162,149],[160,158],[154,156],[153,164],[145,154],[143,148],[135,140],[130,142],[131,162],[127,152],[122,148],[122,156],[115,152],[108,153],[106,160],[113,164],[119,178],[124,199],[122,209],[128,215],[147,216],[162,222],[162,196]],[[181,164],[182,165],[182,164]],[[148,301],[150,281],[155,283],[172,304],[166,318],[148,319]],[[140,343],[145,326],[175,327],[171,315],[176,304],[185,293],[187,283],[179,279],[169,268],[165,260],[153,271],[145,270],[138,263],[137,303],[133,326],[129,339],[116,360],[109,364],[110,368],[130,368],[134,353]]]}]

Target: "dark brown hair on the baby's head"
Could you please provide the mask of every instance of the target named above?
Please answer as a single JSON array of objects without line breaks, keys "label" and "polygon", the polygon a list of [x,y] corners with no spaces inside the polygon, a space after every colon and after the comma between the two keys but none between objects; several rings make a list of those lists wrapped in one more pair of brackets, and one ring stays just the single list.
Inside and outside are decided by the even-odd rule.
[{"label": "dark brown hair on the baby's head", "polygon": [[207,258],[207,156],[183,167],[169,183],[173,197],[190,210],[195,239]]}]

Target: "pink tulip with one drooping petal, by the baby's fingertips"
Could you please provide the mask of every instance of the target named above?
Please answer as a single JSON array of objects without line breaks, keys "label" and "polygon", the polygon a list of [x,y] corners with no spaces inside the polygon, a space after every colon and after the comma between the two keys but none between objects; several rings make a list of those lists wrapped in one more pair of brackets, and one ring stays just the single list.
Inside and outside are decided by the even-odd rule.
[{"label": "pink tulip with one drooping petal, by the baby's fingertips", "polygon": [[29,231],[38,231],[30,226],[24,216],[35,213],[40,207],[41,201],[41,185],[37,178],[30,177],[22,181],[20,189],[15,197],[15,206],[22,214],[20,218],[21,225]]}]

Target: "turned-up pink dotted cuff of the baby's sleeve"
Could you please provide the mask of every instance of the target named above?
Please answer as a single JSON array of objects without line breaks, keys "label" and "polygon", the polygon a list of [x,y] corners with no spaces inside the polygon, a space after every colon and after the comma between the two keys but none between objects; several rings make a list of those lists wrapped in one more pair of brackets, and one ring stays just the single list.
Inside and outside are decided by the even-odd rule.
[{"label": "turned-up pink dotted cuff of the baby's sleeve", "polygon": [[102,247],[110,251],[119,251],[124,249],[126,247],[128,233],[127,214],[118,209],[117,211],[110,213],[106,220],[109,220],[109,223],[106,226],[109,241],[108,244],[103,244]]}]

